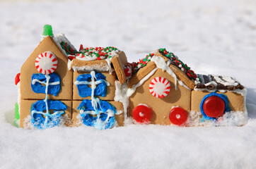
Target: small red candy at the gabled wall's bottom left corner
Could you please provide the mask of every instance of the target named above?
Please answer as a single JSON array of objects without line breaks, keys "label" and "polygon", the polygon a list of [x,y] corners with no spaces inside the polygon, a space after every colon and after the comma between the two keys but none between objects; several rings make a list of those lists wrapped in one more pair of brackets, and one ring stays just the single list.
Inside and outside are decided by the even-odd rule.
[{"label": "small red candy at the gabled wall's bottom left corner", "polygon": [[137,123],[148,123],[151,116],[151,108],[145,104],[139,104],[132,111],[132,115]]}]

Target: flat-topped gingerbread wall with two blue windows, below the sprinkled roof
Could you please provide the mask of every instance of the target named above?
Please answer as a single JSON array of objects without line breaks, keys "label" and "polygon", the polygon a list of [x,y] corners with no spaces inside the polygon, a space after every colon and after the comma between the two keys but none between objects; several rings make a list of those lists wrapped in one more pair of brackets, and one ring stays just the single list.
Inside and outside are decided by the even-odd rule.
[{"label": "flat-topped gingerbread wall with two blue windows, below the sprinkled roof", "polygon": [[[115,72],[111,74],[108,71],[94,70],[74,72],[72,115],[74,126],[88,125],[105,129],[113,125],[123,125],[122,103],[114,101],[115,80]],[[93,83],[95,83],[94,87]],[[119,114],[120,112],[122,113]]]}]

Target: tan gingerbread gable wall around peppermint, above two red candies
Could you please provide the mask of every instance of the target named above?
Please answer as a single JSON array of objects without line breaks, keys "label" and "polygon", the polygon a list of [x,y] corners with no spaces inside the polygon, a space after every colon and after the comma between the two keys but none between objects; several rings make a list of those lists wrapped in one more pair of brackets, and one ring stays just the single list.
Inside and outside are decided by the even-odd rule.
[{"label": "tan gingerbread gable wall around peppermint, above two red candies", "polygon": [[[170,92],[158,98],[150,92],[149,85],[155,77],[165,78],[170,82]],[[159,125],[170,125],[169,112],[173,106],[180,106],[190,113],[190,96],[191,91],[177,82],[177,90],[175,90],[175,79],[163,70],[158,69],[148,80],[141,86],[136,88],[136,92],[130,97],[129,116],[139,104],[146,104],[152,109],[150,123]]]}]

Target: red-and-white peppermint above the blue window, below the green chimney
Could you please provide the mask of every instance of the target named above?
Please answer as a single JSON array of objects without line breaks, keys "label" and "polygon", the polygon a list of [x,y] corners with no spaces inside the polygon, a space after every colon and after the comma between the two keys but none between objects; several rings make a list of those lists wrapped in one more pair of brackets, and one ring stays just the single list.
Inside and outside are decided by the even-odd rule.
[{"label": "red-and-white peppermint above the blue window, below the green chimney", "polygon": [[57,65],[57,57],[51,51],[45,51],[35,59],[35,68],[37,68],[38,72],[45,75],[53,73]]}]

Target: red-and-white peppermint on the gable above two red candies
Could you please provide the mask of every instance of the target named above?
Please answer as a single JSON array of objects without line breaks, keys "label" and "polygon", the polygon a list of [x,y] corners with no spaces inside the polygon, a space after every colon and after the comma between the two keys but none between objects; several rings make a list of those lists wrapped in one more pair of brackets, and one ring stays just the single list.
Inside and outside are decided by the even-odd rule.
[{"label": "red-and-white peppermint on the gable above two red candies", "polygon": [[149,92],[156,98],[163,98],[170,93],[170,82],[164,77],[155,77],[149,84]]}]

